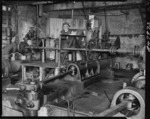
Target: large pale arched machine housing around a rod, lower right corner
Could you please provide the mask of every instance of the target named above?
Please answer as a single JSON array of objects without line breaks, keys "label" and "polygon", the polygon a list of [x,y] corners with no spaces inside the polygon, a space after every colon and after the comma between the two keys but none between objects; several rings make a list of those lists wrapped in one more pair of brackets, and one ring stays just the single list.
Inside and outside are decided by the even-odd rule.
[{"label": "large pale arched machine housing around a rod, lower right corner", "polygon": [[125,109],[119,112],[128,119],[145,118],[145,91],[134,87],[126,87],[118,91],[112,100],[111,107],[120,104],[122,101],[130,101]]}]

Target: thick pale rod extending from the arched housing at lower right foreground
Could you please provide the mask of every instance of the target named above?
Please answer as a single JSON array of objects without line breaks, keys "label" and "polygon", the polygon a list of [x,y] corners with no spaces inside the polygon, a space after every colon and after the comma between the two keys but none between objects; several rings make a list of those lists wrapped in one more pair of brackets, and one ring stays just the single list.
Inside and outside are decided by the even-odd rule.
[{"label": "thick pale rod extending from the arched housing at lower right foreground", "polygon": [[129,101],[123,101],[122,103],[111,107],[107,110],[105,110],[104,112],[100,113],[100,114],[96,114],[94,116],[99,117],[99,116],[105,116],[105,117],[110,117],[113,116],[115,114],[117,114],[118,112],[120,112],[121,110],[125,109],[127,107],[127,104],[129,103]]}]

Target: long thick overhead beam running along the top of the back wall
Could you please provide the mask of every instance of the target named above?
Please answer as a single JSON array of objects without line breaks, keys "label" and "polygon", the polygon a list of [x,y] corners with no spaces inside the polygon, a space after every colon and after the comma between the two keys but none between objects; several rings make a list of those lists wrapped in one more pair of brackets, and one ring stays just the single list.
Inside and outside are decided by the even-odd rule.
[{"label": "long thick overhead beam running along the top of the back wall", "polygon": [[[107,2],[107,8],[109,7],[117,7],[117,6],[130,6],[130,5],[138,5],[141,4],[142,0],[138,1],[127,1],[127,2]],[[95,9],[95,8],[101,8],[104,9],[105,4],[104,2],[84,2],[85,9]],[[44,5],[43,11],[44,12],[50,12],[50,11],[66,11],[66,10],[80,10],[83,9],[83,5],[81,2],[76,3],[61,3],[61,4],[51,4],[51,5]]]}]

